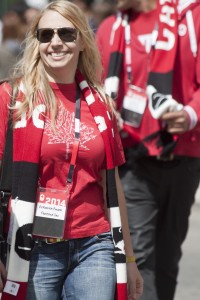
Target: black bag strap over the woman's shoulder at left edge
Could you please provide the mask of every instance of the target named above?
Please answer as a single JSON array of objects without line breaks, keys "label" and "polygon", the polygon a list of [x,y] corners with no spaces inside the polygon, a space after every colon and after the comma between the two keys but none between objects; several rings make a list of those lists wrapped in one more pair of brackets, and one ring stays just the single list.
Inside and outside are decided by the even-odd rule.
[{"label": "black bag strap over the woman's shoulder at left edge", "polygon": [[[14,101],[13,86],[10,104]],[[0,178],[0,192],[3,199],[7,193],[11,192],[12,187],[12,161],[13,161],[13,130],[12,130],[12,110],[9,110],[8,127],[6,132],[6,141],[4,148],[4,155],[1,162],[1,178]]]}]

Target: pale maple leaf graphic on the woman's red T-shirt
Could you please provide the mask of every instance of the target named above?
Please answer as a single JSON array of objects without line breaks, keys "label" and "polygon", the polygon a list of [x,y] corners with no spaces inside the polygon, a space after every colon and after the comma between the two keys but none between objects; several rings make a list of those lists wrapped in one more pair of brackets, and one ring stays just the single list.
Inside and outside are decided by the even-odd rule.
[{"label": "pale maple leaf graphic on the woman's red T-shirt", "polygon": [[[80,124],[80,145],[84,150],[90,150],[85,144],[94,140],[96,135],[93,134],[94,128],[87,124]],[[70,113],[62,103],[58,107],[58,115],[55,124],[55,130],[51,125],[51,120],[45,121],[45,134],[48,135],[48,144],[66,144],[66,152],[69,152],[69,146],[73,144],[75,134],[75,113]]]}]

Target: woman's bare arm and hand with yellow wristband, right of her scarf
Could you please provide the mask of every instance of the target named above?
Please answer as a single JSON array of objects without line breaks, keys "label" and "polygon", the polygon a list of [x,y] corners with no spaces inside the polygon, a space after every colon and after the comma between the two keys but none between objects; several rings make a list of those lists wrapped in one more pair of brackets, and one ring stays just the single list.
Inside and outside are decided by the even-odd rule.
[{"label": "woman's bare arm and hand with yellow wristband, right of her scarf", "polygon": [[[115,169],[115,178],[117,185],[117,193],[119,200],[119,208],[122,221],[122,232],[125,243],[125,253],[126,257],[135,257],[133,246],[131,243],[127,208],[124,197],[124,192],[122,189],[121,181],[118,174],[118,168]],[[128,277],[128,297],[129,300],[136,300],[142,295],[143,292],[143,279],[138,271],[136,262],[127,262],[127,277]]]}]

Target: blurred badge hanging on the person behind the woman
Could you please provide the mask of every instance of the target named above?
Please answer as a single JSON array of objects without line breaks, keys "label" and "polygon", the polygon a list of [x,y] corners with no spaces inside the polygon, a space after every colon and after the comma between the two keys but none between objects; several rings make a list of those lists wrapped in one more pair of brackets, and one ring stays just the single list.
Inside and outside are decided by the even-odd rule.
[{"label": "blurred badge hanging on the person behind the woman", "polygon": [[130,85],[123,99],[121,116],[128,125],[138,128],[147,104],[145,90]]}]

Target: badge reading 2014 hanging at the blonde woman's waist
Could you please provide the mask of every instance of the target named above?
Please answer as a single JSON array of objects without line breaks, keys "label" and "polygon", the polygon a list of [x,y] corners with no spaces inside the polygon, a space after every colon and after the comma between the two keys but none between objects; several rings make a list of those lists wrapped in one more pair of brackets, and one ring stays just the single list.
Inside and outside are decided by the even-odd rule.
[{"label": "badge reading 2014 hanging at the blonde woman's waist", "polygon": [[38,188],[32,234],[37,237],[63,238],[69,189]]}]

